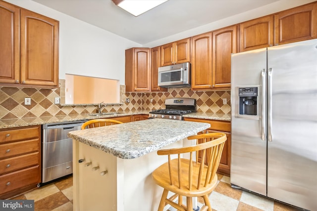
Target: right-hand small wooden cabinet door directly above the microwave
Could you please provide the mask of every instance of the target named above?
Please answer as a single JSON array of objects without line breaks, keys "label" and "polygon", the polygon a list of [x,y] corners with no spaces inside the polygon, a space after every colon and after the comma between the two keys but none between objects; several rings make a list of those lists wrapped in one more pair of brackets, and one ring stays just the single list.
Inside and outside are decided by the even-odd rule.
[{"label": "right-hand small wooden cabinet door directly above the microwave", "polygon": [[174,42],[174,64],[190,61],[190,38]]}]

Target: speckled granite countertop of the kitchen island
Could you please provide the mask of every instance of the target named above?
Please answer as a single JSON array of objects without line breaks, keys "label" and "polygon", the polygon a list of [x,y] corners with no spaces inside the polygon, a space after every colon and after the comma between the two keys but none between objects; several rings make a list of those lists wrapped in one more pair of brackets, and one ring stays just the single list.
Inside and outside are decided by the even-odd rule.
[{"label": "speckled granite countertop of the kitchen island", "polygon": [[211,127],[208,123],[149,119],[106,127],[76,130],[68,137],[110,153],[133,159],[197,134]]}]

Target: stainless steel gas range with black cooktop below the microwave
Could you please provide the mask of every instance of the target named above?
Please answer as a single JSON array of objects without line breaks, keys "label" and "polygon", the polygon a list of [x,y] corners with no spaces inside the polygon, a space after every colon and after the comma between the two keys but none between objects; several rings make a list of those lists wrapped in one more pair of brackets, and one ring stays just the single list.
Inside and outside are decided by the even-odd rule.
[{"label": "stainless steel gas range with black cooktop below the microwave", "polygon": [[149,118],[183,120],[182,115],[196,112],[196,100],[191,98],[165,99],[166,109],[150,111]]}]

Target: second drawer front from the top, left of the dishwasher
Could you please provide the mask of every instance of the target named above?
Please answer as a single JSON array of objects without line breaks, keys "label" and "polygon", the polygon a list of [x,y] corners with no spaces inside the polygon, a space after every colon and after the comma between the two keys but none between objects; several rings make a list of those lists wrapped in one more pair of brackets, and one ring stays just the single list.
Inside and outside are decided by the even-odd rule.
[{"label": "second drawer front from the top, left of the dishwasher", "polygon": [[0,159],[36,151],[40,151],[39,139],[0,144]]}]

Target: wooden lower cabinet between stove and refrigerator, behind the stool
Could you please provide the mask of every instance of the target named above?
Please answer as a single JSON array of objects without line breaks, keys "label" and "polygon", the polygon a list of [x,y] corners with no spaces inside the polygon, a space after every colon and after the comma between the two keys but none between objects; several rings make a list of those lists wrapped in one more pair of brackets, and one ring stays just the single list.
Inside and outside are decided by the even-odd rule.
[{"label": "wooden lower cabinet between stove and refrigerator, behind the stool", "polygon": [[[231,160],[231,123],[229,121],[217,121],[217,120],[206,120],[206,119],[195,119],[195,118],[184,118],[185,121],[191,122],[202,122],[209,123],[211,127],[200,132],[200,133],[210,133],[210,132],[223,132],[227,136],[227,140],[224,144],[222,151],[222,156],[217,172],[230,175],[230,160]],[[200,134],[199,133],[199,134]],[[200,140],[198,140],[200,142]],[[200,158],[200,156],[198,156]]]}]

